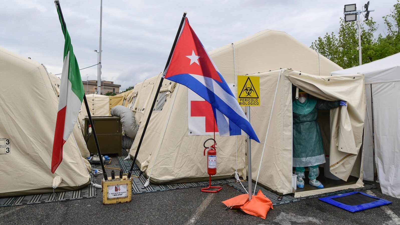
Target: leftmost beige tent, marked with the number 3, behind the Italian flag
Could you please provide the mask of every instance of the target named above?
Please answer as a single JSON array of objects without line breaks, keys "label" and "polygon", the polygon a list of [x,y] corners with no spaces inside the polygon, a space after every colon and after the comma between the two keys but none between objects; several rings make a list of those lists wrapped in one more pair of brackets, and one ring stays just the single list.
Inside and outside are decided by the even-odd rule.
[{"label": "leftmost beige tent, marked with the number 3, behind the Italian flag", "polygon": [[62,163],[50,171],[58,111],[53,78],[38,62],[0,48],[0,197],[51,193],[56,176],[62,178],[56,191],[90,183],[73,134]]}]

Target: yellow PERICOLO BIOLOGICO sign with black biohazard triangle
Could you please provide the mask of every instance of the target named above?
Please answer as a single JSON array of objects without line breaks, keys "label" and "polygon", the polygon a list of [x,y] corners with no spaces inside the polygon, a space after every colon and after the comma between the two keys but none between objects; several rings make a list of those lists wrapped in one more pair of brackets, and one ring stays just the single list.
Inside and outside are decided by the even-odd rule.
[{"label": "yellow PERICOLO BIOLOGICO sign with black biohazard triangle", "polygon": [[259,76],[238,76],[238,102],[240,106],[260,106],[259,94]]}]

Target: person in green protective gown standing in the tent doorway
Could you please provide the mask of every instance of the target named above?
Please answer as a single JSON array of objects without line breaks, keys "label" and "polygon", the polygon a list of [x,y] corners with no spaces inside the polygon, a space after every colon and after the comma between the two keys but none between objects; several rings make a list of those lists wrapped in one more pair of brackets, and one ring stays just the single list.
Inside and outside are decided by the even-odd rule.
[{"label": "person in green protective gown standing in the tent doorway", "polygon": [[320,127],[316,121],[318,109],[331,109],[347,106],[345,101],[326,101],[308,98],[306,92],[299,90],[298,99],[292,102],[293,109],[293,167],[297,175],[297,187],[304,187],[304,167],[308,167],[309,184],[317,188],[324,185],[316,178],[318,166],[325,163],[324,147]]}]

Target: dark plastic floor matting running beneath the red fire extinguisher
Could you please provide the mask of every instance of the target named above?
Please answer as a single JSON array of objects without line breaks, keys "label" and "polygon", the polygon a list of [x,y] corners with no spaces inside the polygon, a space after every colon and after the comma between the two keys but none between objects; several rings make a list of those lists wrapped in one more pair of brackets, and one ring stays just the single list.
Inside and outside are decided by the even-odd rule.
[{"label": "dark plastic floor matting running beneath the red fire extinguisher", "polygon": [[[124,158],[128,155],[128,153],[122,149],[122,157],[118,157],[118,162],[120,163],[121,169],[124,170],[124,173],[128,173],[132,165],[132,159],[124,160]],[[138,176],[140,174],[139,167],[135,164],[133,167],[132,175]],[[150,183],[146,188],[142,188],[144,183],[146,183],[146,178],[142,175],[140,177],[132,177],[132,193],[133,194],[142,194],[142,193],[151,193],[158,191],[169,191],[176,189],[184,189],[190,187],[204,187],[208,186],[208,181],[203,182],[192,182],[192,183],[181,183],[181,184],[168,184],[168,185],[156,185]],[[231,179],[223,179],[211,181],[211,185],[224,185],[228,183],[236,182],[236,180],[232,177]]]}]

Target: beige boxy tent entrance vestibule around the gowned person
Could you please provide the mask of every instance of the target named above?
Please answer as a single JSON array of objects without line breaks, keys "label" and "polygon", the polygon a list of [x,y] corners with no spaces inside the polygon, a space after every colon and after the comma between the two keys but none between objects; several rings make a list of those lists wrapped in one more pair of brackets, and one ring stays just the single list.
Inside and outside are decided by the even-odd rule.
[{"label": "beige boxy tent entrance vestibule around the gowned person", "polygon": [[[294,70],[249,74],[260,77],[260,104],[251,107],[251,123],[261,141],[252,141],[252,171],[258,182],[278,193],[292,192],[292,85],[322,100],[348,106],[319,110],[318,123],[330,172],[343,181],[324,189],[298,190],[295,197],[362,187],[361,144],[364,129],[364,76],[315,76]],[[269,128],[269,129],[268,129]],[[268,132],[268,136],[267,131]],[[265,141],[266,140],[266,141]],[[264,146],[264,142],[266,143]],[[260,164],[261,163],[261,164]],[[323,177],[323,174],[320,175]],[[320,177],[320,178],[321,178]],[[253,175],[253,179],[257,177]],[[347,182],[344,182],[347,181]]]}]

